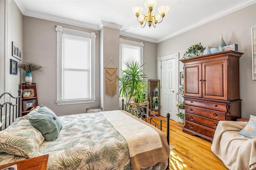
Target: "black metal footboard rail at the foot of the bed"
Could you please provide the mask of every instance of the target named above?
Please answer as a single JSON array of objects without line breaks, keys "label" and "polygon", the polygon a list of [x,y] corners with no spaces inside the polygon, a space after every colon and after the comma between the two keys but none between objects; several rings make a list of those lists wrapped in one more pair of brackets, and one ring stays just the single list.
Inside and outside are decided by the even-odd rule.
[{"label": "black metal footboard rail at the foot of the bed", "polygon": [[[166,137],[167,137],[167,142],[170,145],[170,113],[166,114],[166,120],[158,118],[154,113],[151,112],[151,110],[149,108],[147,108],[146,106],[137,106],[135,103],[130,103],[130,104],[124,104],[124,99],[122,99],[122,110],[125,110],[126,112],[130,112],[131,114],[133,114],[134,116],[140,118],[143,120],[143,118],[145,117],[145,121],[147,120],[147,118],[149,119],[149,122],[151,124],[151,122],[153,122],[155,124],[155,127],[158,126],[160,128],[160,130],[162,131],[162,122],[166,122]],[[157,124],[152,118],[151,116],[146,114],[146,111],[148,110],[148,112],[150,112],[150,115],[154,116],[155,118],[157,118],[158,120],[160,120],[160,124]],[[169,169],[169,158],[168,158],[168,166],[167,169]]]}]

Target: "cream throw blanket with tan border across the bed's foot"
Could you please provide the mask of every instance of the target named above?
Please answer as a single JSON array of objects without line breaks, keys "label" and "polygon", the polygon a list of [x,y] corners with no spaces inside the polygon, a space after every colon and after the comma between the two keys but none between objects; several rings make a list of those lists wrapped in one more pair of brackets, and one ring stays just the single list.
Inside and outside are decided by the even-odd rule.
[{"label": "cream throw blanket with tan border across the bed's foot", "polygon": [[100,113],[126,139],[132,170],[166,162],[170,155],[170,147],[162,131],[125,111]]}]

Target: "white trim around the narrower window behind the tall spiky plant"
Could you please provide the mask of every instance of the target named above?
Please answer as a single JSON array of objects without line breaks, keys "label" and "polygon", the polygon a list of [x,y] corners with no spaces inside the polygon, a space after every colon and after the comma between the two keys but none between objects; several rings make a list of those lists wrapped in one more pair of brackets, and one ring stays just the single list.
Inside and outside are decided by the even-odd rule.
[{"label": "white trim around the narrower window behind the tall spiky plant", "polygon": [[[131,41],[131,40],[124,40],[123,38],[119,38],[119,68],[122,68],[122,62],[123,62],[123,56],[122,56],[122,44],[127,44],[131,46],[137,46],[140,47],[140,64],[143,64],[143,47],[144,47],[144,42],[136,42],[136,41]],[[143,66],[142,66],[143,70]],[[119,72],[119,77],[122,76],[122,71]]]}]

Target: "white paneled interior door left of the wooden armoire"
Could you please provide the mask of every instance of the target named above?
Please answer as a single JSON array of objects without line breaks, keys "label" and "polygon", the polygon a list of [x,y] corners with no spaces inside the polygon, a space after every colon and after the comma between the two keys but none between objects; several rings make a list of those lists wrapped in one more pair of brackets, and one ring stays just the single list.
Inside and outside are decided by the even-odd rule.
[{"label": "white paneled interior door left of the wooden armoire", "polygon": [[170,119],[178,121],[176,98],[178,92],[178,58],[161,61],[161,116],[170,113]]}]

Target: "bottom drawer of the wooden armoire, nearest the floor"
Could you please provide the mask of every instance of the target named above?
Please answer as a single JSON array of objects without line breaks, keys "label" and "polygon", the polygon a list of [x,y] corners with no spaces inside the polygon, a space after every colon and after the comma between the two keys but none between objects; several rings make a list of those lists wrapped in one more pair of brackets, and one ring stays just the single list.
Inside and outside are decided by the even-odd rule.
[{"label": "bottom drawer of the wooden armoire, nearest the floor", "polygon": [[209,136],[211,138],[213,138],[214,132],[215,132],[215,129],[208,128],[206,126],[202,126],[200,124],[196,124],[196,123],[193,123],[193,122],[190,122],[190,121],[186,121],[185,127],[190,129],[190,130],[194,130],[194,131],[196,131],[200,134],[204,134],[206,136]]}]

